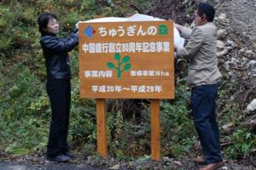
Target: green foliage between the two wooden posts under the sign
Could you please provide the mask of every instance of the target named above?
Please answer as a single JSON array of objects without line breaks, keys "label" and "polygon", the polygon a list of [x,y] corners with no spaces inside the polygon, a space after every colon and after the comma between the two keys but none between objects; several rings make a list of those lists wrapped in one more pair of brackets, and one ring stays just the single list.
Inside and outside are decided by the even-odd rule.
[{"label": "green foliage between the two wooden posts under the sign", "polygon": [[[146,109],[146,108],[145,108]],[[119,160],[149,154],[150,122],[148,112],[143,111],[143,120],[138,124],[135,117],[125,121],[120,111],[108,115],[110,154]]]}]

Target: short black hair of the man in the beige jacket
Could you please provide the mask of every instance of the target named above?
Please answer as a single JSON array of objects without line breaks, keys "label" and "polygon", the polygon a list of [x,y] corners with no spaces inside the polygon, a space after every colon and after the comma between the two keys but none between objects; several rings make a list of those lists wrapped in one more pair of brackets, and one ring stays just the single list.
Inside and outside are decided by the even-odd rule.
[{"label": "short black hair of the man in the beige jacket", "polygon": [[201,16],[201,18],[204,17],[207,21],[212,22],[215,16],[215,9],[209,3],[199,3],[197,14]]}]

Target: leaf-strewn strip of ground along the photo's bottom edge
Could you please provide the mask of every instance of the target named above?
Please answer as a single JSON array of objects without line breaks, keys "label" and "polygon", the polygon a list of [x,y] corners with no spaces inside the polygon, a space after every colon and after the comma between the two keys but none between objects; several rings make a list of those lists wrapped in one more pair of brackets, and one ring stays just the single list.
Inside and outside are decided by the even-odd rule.
[{"label": "leaf-strewn strip of ground along the photo's bottom edge", "polygon": [[[96,169],[154,169],[154,170],[195,170],[201,166],[192,159],[183,160],[162,158],[161,161],[150,161],[149,156],[143,156],[137,161],[115,161],[113,158],[93,160],[73,160],[69,163],[49,162],[45,159],[41,161],[29,161],[25,159],[13,161],[0,161],[1,170],[96,170]],[[252,164],[246,162],[227,161],[218,170],[255,170]]]}]

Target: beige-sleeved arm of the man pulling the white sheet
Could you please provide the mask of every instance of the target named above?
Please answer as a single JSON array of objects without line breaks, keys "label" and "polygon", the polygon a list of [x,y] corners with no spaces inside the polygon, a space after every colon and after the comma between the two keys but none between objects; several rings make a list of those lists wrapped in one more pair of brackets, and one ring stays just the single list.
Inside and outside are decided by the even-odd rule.
[{"label": "beige-sleeved arm of the man pulling the white sheet", "polygon": [[203,40],[203,32],[199,28],[195,28],[191,33],[186,47],[177,48],[177,57],[190,60],[195,52],[201,47]]}]

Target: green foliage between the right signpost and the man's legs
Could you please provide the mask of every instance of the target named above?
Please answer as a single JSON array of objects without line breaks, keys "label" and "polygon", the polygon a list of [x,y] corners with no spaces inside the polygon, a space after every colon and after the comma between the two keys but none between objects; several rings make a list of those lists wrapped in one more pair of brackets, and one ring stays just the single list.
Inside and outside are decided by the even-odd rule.
[{"label": "green foliage between the right signpost and the man's legs", "polygon": [[161,135],[164,136],[161,141],[165,156],[184,156],[195,144],[195,127],[188,114],[189,95],[183,82],[176,89],[176,99],[161,102]]}]

